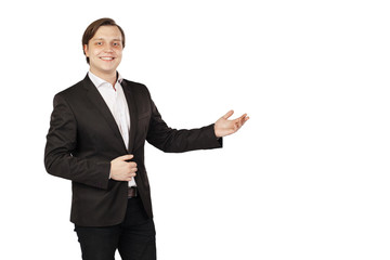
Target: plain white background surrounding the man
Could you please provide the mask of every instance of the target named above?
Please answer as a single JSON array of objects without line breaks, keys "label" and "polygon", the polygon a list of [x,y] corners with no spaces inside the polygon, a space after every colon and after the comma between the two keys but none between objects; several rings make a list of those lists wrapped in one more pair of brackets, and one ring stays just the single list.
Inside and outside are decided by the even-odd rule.
[{"label": "plain white background surrounding the man", "polygon": [[158,259],[390,259],[387,2],[2,2],[0,259],[80,259],[43,150],[105,16],[126,31],[119,72],[171,127],[250,116],[222,150],[146,146]]}]

